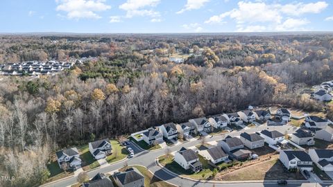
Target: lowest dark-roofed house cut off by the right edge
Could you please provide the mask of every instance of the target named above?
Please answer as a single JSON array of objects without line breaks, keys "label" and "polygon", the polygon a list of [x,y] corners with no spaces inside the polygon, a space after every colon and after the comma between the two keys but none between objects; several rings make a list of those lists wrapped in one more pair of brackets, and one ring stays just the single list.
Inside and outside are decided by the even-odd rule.
[{"label": "lowest dark-roofed house cut off by the right edge", "polygon": [[333,150],[309,149],[309,155],[316,166],[323,171],[333,171]]}]

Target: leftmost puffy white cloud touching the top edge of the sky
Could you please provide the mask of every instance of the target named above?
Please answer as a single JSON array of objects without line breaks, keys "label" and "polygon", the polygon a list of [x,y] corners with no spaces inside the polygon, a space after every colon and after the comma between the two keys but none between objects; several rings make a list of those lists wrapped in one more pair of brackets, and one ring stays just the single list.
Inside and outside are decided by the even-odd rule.
[{"label": "leftmost puffy white cloud touching the top edge of the sky", "polygon": [[56,0],[57,11],[67,12],[69,19],[99,19],[96,12],[105,11],[111,8],[105,4],[105,0]]}]

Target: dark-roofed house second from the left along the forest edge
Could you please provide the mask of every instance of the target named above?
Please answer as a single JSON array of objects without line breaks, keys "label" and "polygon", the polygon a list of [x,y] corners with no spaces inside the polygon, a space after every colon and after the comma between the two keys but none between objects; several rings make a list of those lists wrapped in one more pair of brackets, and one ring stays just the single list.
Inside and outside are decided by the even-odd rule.
[{"label": "dark-roofed house second from the left along the forest edge", "polygon": [[112,145],[109,139],[89,142],[89,152],[96,160],[105,158],[111,154],[111,151]]}]

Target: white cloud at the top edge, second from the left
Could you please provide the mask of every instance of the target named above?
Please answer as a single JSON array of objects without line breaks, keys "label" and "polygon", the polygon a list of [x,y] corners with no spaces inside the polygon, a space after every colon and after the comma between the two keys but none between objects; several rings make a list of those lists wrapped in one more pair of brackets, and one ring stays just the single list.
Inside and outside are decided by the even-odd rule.
[{"label": "white cloud at the top edge, second from the left", "polygon": [[128,18],[134,16],[160,17],[160,12],[151,10],[158,3],[160,3],[160,0],[127,0],[119,8],[126,10],[126,17]]}]

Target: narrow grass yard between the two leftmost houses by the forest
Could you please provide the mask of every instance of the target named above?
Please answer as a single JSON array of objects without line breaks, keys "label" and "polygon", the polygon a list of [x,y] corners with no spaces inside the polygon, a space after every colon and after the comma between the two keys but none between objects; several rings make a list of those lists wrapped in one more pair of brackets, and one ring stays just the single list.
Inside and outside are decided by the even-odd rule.
[{"label": "narrow grass yard between the two leftmost houses by the forest", "polygon": [[80,152],[80,158],[82,159],[82,168],[83,170],[91,170],[99,167],[99,162],[92,157],[92,154],[89,152],[89,146],[83,145],[78,148],[78,152]]}]

